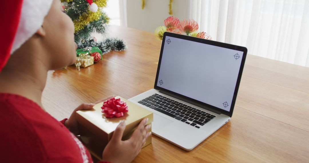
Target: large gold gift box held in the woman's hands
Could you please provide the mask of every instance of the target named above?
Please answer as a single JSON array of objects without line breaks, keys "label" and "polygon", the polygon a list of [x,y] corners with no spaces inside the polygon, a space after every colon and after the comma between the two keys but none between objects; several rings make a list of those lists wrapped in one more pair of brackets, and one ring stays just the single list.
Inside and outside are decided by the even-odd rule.
[{"label": "large gold gift box held in the woman's hands", "polygon": [[[153,113],[151,111],[148,111],[120,96],[115,98],[120,98],[123,102],[126,102],[126,105],[128,106],[128,111],[124,112],[121,117],[106,117],[106,113],[102,113],[101,108],[104,102],[96,104],[91,110],[81,110],[76,112],[80,139],[90,153],[98,160],[102,160],[101,157],[103,150],[111,140],[112,134],[121,120],[124,119],[126,125],[122,140],[130,138],[142,119],[148,118],[146,124],[151,124],[153,121]],[[151,127],[148,132],[150,131]],[[151,135],[146,139],[146,144],[143,147],[150,143]]]}]

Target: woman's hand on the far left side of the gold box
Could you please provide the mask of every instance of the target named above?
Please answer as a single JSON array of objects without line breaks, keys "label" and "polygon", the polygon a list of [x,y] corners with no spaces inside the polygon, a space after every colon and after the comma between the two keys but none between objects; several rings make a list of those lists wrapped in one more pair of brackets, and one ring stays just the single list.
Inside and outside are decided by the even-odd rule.
[{"label": "woman's hand on the far left side of the gold box", "polygon": [[92,107],[95,106],[95,104],[106,101],[107,99],[113,98],[115,96],[109,96],[107,98],[100,99],[97,102],[94,103],[83,103],[79,105],[71,114],[70,118],[64,122],[64,125],[66,128],[70,130],[74,135],[79,135],[79,128],[78,128],[78,123],[76,119],[76,111],[83,110],[83,109],[91,109]]}]

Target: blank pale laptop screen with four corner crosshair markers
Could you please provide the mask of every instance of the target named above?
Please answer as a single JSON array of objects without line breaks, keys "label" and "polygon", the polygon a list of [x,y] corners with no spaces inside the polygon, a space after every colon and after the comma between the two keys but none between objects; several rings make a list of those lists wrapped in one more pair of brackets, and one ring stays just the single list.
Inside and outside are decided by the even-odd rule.
[{"label": "blank pale laptop screen with four corner crosshair markers", "polygon": [[162,41],[156,86],[230,111],[244,52],[171,36]]}]

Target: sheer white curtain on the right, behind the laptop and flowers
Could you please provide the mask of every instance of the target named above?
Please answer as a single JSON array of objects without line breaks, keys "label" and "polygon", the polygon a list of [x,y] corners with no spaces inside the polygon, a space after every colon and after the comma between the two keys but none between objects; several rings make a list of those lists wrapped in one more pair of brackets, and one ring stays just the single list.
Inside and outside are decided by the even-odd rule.
[{"label": "sheer white curtain on the right, behind the laptop and flowers", "polygon": [[186,5],[188,18],[213,40],[309,67],[309,0],[190,0]]}]

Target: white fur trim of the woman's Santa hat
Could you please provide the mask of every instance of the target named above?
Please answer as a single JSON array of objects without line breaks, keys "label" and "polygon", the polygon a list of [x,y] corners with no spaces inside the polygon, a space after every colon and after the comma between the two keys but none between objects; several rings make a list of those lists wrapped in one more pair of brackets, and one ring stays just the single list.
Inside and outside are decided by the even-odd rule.
[{"label": "white fur trim of the woman's Santa hat", "polygon": [[42,26],[53,0],[23,0],[20,20],[11,54]]}]

